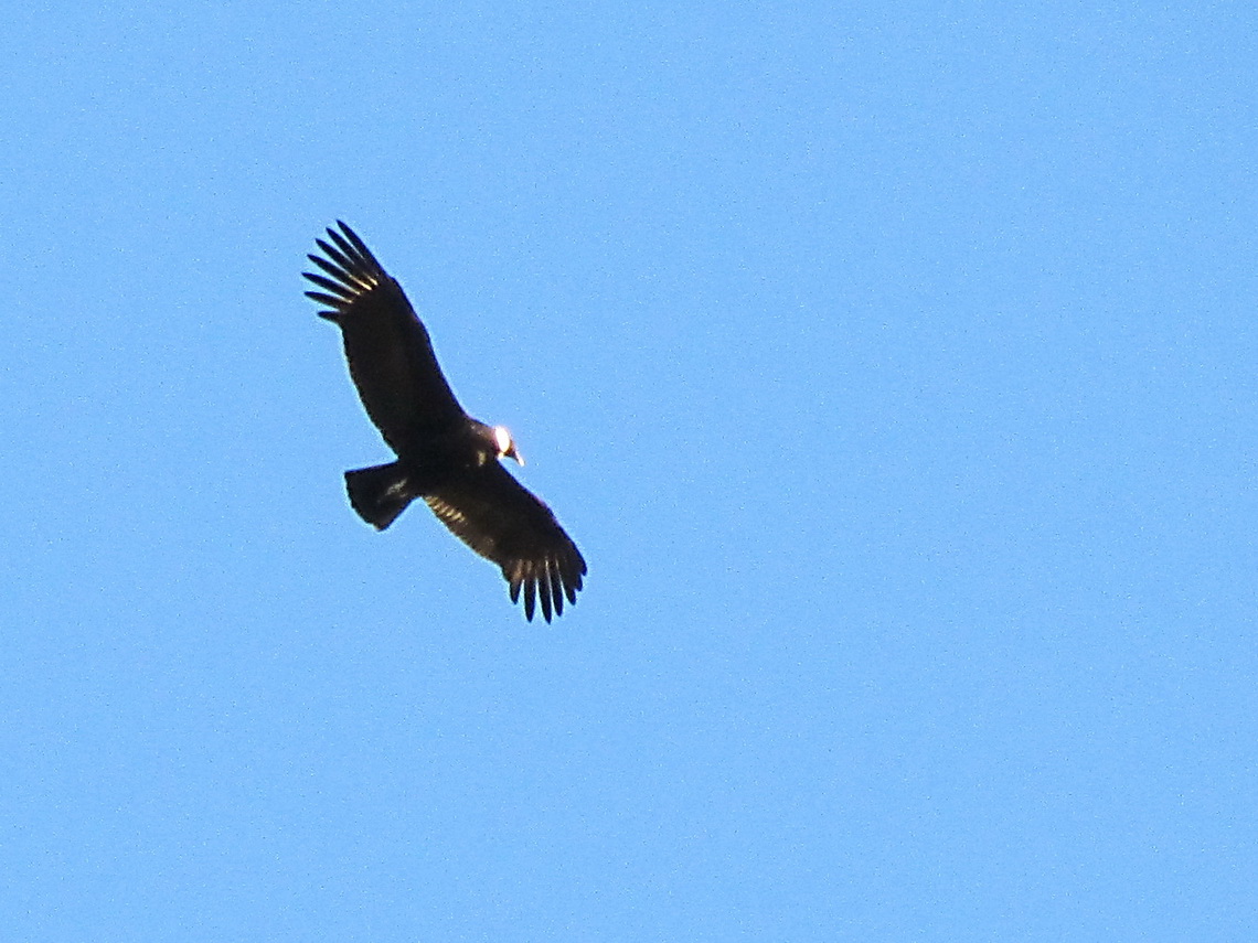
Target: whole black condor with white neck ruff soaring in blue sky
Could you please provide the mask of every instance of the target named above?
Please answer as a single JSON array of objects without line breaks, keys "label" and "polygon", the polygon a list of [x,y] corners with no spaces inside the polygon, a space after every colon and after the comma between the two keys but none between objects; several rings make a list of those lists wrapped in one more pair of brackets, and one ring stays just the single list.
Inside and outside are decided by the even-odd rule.
[{"label": "whole black condor with white neck ruff soaring in blue sky", "polygon": [[398,454],[387,465],[345,473],[350,504],[382,531],[423,498],[455,537],[502,567],[511,601],[523,591],[525,616],[542,617],[576,602],[585,560],[551,509],[499,464],[525,464],[502,426],[472,419],[437,365],[428,331],[401,285],[343,223],[317,239],[326,258],[306,272],[322,290],[306,294],[327,306],[320,317],[341,328],[350,376],[371,421]]}]

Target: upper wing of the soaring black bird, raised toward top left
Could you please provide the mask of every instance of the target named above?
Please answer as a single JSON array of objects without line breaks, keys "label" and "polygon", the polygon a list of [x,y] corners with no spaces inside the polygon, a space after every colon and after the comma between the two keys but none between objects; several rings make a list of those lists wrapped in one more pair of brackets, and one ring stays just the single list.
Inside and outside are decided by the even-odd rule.
[{"label": "upper wing of the soaring black bird, raised toward top left", "polygon": [[385,441],[401,454],[416,433],[462,417],[463,409],[401,285],[352,229],[337,224],[340,233],[327,230],[331,243],[314,240],[327,258],[308,256],[326,274],[303,273],[323,290],[306,294],[326,304],[320,317],[341,328],[359,397]]}]

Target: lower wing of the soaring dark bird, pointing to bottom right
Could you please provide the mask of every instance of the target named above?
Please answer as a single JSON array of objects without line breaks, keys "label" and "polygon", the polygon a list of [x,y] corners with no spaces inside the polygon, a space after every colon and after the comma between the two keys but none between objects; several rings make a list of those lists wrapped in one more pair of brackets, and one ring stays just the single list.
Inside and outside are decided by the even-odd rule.
[{"label": "lower wing of the soaring dark bird, pointing to bottom right", "polygon": [[486,560],[502,567],[511,601],[525,593],[525,616],[532,621],[535,598],[542,617],[564,612],[564,597],[576,602],[585,560],[555,514],[497,461],[459,475],[425,495],[437,517]]}]

